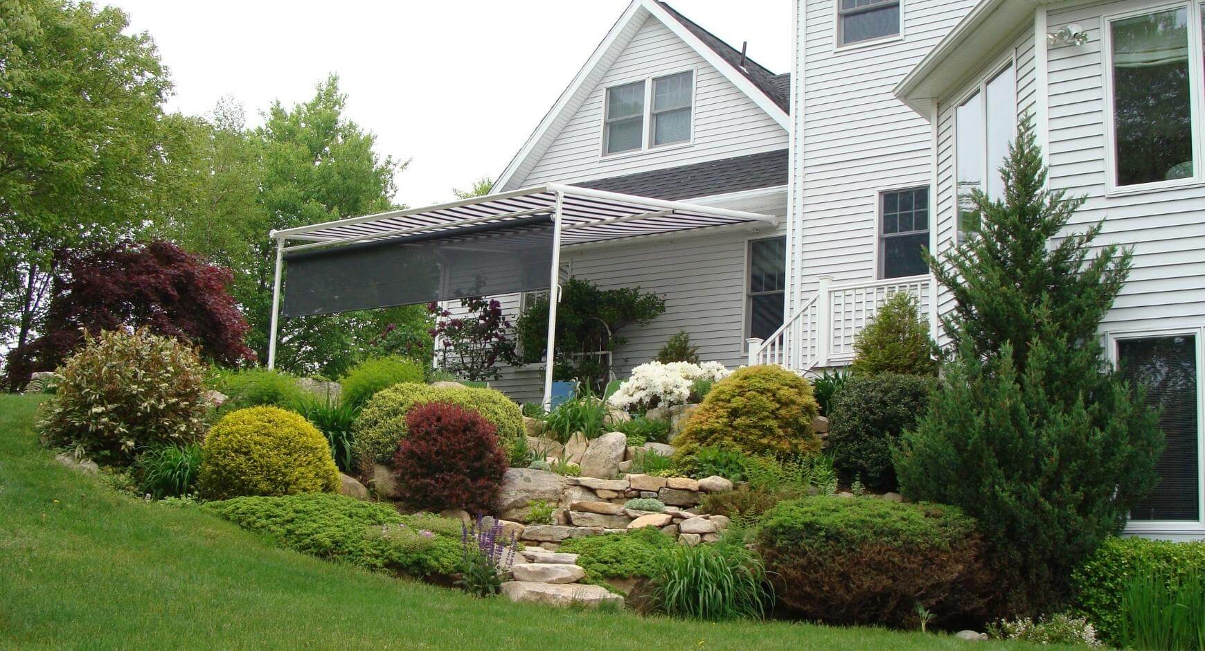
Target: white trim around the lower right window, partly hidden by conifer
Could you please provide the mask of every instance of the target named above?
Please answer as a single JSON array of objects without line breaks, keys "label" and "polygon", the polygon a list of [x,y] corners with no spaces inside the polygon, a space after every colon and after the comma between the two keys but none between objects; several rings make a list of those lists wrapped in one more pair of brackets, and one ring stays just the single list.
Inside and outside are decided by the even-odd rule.
[{"label": "white trim around the lower right window, partly hidden by conifer", "polygon": [[1129,339],[1151,339],[1159,336],[1191,335],[1197,344],[1197,521],[1192,520],[1129,520],[1127,516],[1123,533],[1136,535],[1205,535],[1205,382],[1201,382],[1201,369],[1205,368],[1205,326],[1185,324],[1185,327],[1150,328],[1136,330],[1111,330],[1104,334],[1109,363],[1116,369],[1119,362],[1118,341]]}]

